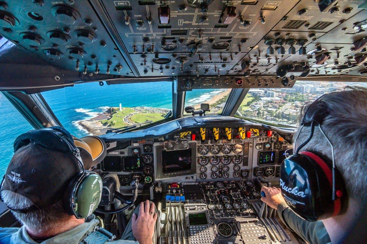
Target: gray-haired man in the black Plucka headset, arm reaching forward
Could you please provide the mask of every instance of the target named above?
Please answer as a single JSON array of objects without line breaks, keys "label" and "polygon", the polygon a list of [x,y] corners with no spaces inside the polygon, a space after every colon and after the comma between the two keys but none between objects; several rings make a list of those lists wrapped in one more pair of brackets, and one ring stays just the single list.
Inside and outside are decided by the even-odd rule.
[{"label": "gray-haired man in the black Plucka headset, arm reaching forward", "polygon": [[[305,155],[310,157],[317,155],[315,158],[328,161],[329,166],[323,164],[323,167],[318,168],[314,164],[313,168],[307,168],[313,163],[307,162],[302,166],[302,163],[298,164],[294,158],[287,158],[288,161],[284,160],[280,169],[281,188],[265,186],[261,188],[263,195],[261,200],[276,209],[284,224],[308,243],[365,243],[367,240],[364,230],[367,199],[366,101],[366,88],[346,87],[304,105],[301,110],[300,127],[294,134],[296,138],[294,149],[302,147],[299,149],[302,160],[305,159]],[[302,124],[307,125],[310,121],[316,121],[313,135],[312,126],[303,126],[301,129]],[[308,141],[309,138],[311,139]],[[335,200],[332,199],[330,191],[332,184],[328,185],[328,182],[332,181],[330,163],[333,152],[327,139],[334,149],[335,172],[340,172],[340,178],[335,181],[335,185],[344,185],[345,189],[336,188]],[[282,172],[282,167],[290,166],[287,162],[292,162],[292,166],[288,167],[289,173],[286,170]],[[321,166],[321,160],[316,164]],[[319,179],[315,183],[315,179],[312,178],[316,173],[307,177],[303,173],[316,169]],[[329,180],[327,178],[322,180],[320,170],[324,173],[329,172]],[[338,173],[335,173],[335,176],[337,175]],[[303,182],[297,184],[297,180]],[[308,188],[306,184],[314,184],[318,189],[325,189],[328,193],[315,194],[318,189],[314,191],[315,188]],[[308,191],[309,189],[312,189],[313,196],[309,195],[312,192]],[[302,201],[308,198],[312,201],[302,204]],[[339,200],[341,205],[337,204]]]}]

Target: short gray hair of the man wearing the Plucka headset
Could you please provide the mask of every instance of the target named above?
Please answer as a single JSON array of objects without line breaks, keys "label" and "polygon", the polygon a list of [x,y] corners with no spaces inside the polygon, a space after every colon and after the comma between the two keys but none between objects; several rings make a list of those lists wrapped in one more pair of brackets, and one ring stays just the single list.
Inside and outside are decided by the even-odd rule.
[{"label": "short gray hair of the man wearing the Plucka headset", "polygon": [[[325,117],[321,128],[334,147],[335,165],[341,173],[349,198],[367,198],[367,89],[364,87],[345,87],[342,90],[322,96],[330,113]],[[317,100],[315,101],[317,102]],[[308,106],[301,110],[300,120]],[[301,128],[301,127],[299,127]],[[300,134],[299,134],[300,133]],[[310,127],[303,127],[294,138],[301,145],[310,134]],[[331,147],[320,129],[315,126],[312,139],[301,149],[317,151],[329,159]],[[359,204],[366,204],[357,200]]]}]

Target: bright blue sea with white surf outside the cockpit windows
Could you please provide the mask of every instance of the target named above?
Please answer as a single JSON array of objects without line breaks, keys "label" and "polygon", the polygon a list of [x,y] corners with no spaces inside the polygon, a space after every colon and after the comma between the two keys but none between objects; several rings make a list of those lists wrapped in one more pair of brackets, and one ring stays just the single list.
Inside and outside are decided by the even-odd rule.
[{"label": "bright blue sea with white surf outside the cockpit windows", "polygon": [[[193,90],[186,93],[185,106],[208,101],[220,90]],[[109,107],[146,106],[172,109],[172,83],[130,83],[99,86],[98,82],[77,84],[42,93],[59,121],[71,134],[82,137],[88,132],[81,128],[80,120],[95,117]],[[0,176],[6,172],[18,135],[33,129],[28,121],[0,93]]]}]

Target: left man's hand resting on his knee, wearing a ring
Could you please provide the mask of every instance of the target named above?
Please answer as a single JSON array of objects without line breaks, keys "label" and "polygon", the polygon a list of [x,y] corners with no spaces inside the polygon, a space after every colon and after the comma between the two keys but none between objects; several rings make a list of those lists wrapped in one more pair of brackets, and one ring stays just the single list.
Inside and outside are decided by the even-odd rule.
[{"label": "left man's hand resting on his knee, wearing a ring", "polygon": [[152,244],[156,221],[157,213],[155,213],[154,203],[149,204],[149,200],[142,202],[139,206],[139,216],[132,214],[131,218],[132,234],[139,244]]}]

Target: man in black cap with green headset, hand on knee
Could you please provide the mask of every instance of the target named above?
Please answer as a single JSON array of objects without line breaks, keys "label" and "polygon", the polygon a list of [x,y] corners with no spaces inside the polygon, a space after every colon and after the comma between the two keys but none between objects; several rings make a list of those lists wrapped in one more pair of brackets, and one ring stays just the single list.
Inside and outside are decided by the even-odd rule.
[{"label": "man in black cap with green headset, hand on knee", "polygon": [[[68,139],[72,138],[69,132],[61,127],[51,128],[62,130]],[[34,134],[38,131],[44,132],[43,129],[31,132]],[[55,145],[62,146],[57,144],[57,140],[52,141],[52,136],[31,136],[29,139],[27,133],[20,135],[14,142],[15,153],[0,190],[1,200],[21,222],[22,227],[0,228],[0,243],[112,241],[112,233],[97,227],[99,221],[91,214],[92,211],[85,218],[76,218],[65,210],[64,192],[70,180],[80,170],[73,154],[51,149]],[[106,155],[104,142],[96,136],[73,138],[73,142],[80,150],[84,167],[87,169],[97,165]],[[98,187],[102,186],[102,180],[100,184]],[[99,200],[97,206],[98,203]],[[94,206],[92,207],[94,210]],[[135,209],[121,240],[113,242],[156,243],[156,222],[155,204],[148,200],[142,202]]]}]

